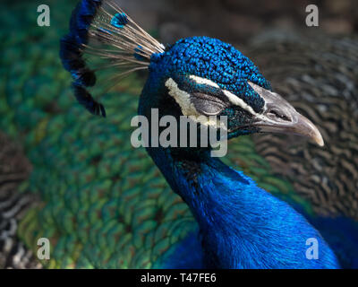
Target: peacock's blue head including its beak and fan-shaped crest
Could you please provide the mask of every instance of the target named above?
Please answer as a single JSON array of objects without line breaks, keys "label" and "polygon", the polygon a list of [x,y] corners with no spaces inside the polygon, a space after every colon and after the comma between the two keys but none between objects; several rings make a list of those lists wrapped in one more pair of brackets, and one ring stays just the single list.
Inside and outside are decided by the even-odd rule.
[{"label": "peacock's blue head including its beak and fan-shaped crest", "polygon": [[[104,59],[90,68],[84,53]],[[61,40],[64,68],[71,72],[74,95],[95,115],[106,117],[102,104],[87,89],[96,71],[123,73],[149,69],[141,94],[140,114],[197,118],[200,126],[221,128],[210,117],[226,117],[228,138],[257,132],[305,135],[323,145],[319,130],[286,100],[273,92],[251,60],[218,39],[181,39],[165,48],[132,21],[115,0],[82,0],[72,13],[70,32]],[[96,62],[96,61],[95,61]]]}]

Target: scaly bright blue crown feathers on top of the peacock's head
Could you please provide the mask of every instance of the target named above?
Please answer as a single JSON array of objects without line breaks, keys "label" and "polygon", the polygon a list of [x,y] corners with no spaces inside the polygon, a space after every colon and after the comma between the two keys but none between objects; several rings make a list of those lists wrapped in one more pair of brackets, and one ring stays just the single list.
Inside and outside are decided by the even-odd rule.
[{"label": "scaly bright blue crown feathers on top of the peacock's head", "polygon": [[[244,57],[232,45],[208,37],[181,39],[165,53],[154,54],[149,71],[157,79],[173,77],[175,74],[207,78],[220,88],[232,91],[256,112],[260,112],[264,101],[247,81],[271,90],[268,81],[248,57]],[[158,82],[154,79],[150,81]]]}]

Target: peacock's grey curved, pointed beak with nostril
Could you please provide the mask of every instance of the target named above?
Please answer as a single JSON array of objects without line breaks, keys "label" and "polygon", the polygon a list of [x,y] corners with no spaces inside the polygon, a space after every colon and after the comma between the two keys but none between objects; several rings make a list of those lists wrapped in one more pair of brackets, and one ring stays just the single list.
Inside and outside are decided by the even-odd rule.
[{"label": "peacock's grey curved, pointed beak with nostril", "polygon": [[311,120],[303,117],[277,93],[265,90],[255,83],[249,84],[265,100],[264,110],[257,115],[253,126],[259,127],[261,132],[303,135],[324,146],[322,135]]}]

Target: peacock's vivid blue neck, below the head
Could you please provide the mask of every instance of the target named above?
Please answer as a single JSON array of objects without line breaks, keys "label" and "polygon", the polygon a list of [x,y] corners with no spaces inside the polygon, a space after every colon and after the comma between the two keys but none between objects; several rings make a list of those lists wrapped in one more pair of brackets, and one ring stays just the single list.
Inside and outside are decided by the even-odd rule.
[{"label": "peacock's vivid blue neck, below the head", "polygon": [[[337,258],[301,214],[208,150],[149,148],[149,155],[200,226],[209,268],[337,268]],[[317,239],[320,259],[306,257]]]}]

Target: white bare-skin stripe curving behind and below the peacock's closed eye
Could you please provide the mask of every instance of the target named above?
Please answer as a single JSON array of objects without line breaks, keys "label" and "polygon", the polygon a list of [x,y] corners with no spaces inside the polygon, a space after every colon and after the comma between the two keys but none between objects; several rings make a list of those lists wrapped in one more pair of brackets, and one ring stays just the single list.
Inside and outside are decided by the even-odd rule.
[{"label": "white bare-skin stripe curving behind and below the peacock's closed eye", "polygon": [[[166,80],[166,88],[169,90],[169,95],[172,96],[176,103],[182,109],[183,116],[192,117],[193,120],[200,122],[204,126],[218,126],[223,127],[219,120],[213,120],[210,117],[201,115],[190,100],[190,94],[179,89],[178,84],[172,78]],[[224,126],[225,128],[225,126]]]}]

